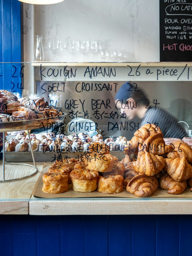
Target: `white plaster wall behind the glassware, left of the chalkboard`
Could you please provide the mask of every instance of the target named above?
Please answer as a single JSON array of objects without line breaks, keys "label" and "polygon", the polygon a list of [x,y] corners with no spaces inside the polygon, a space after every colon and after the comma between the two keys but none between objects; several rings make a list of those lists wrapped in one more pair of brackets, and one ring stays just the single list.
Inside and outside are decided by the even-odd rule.
[{"label": "white plaster wall behind the glassware, left of the chalkboard", "polygon": [[[100,55],[83,57],[64,50],[54,57],[48,50],[49,39],[64,43],[71,37],[108,40],[111,50],[127,50],[127,62],[159,62],[159,0],[64,0],[33,7],[34,34],[43,35],[46,61],[103,61]],[[24,4],[24,16],[28,8]]]}]

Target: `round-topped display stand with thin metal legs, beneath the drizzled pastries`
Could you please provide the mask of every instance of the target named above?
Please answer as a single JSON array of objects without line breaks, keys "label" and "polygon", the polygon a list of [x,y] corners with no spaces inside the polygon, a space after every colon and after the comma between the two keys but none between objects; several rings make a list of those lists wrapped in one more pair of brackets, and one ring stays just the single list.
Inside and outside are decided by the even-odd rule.
[{"label": "round-topped display stand with thin metal legs, beneath the drizzled pastries", "polygon": [[[42,126],[44,126],[46,129],[47,126],[50,127],[50,124],[52,125],[53,123],[57,126],[59,123],[63,122],[65,115],[66,115],[66,113],[64,113],[62,116],[57,116],[57,117],[49,117],[49,118],[41,118],[41,119],[33,119],[33,120],[22,120],[22,121],[11,121],[11,122],[0,122],[0,132],[3,133],[3,162],[1,163],[3,165],[3,179],[0,180],[0,182],[22,180],[24,178],[31,177],[37,173],[38,170],[37,170],[36,162],[34,159],[29,130],[39,129]],[[13,131],[18,131],[18,130],[27,130],[27,132],[28,132],[29,141],[30,141],[30,145],[31,145],[31,154],[32,154],[34,165],[21,164],[18,162],[17,163],[16,162],[9,162],[9,163],[5,162],[5,132],[13,132]],[[11,180],[5,180],[5,165],[13,165],[13,164],[14,165],[27,165],[27,166],[33,167],[35,169],[35,171],[32,172],[32,174],[27,175],[27,176],[14,178]],[[19,174],[19,172],[18,172],[18,174]]]}]

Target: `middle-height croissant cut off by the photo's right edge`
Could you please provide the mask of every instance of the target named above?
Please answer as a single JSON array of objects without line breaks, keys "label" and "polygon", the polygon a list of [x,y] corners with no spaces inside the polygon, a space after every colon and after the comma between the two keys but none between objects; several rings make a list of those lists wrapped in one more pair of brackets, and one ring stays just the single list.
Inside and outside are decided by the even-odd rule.
[{"label": "middle-height croissant cut off by the photo's right edge", "polygon": [[175,159],[166,158],[164,170],[175,181],[188,180],[188,178],[192,177],[192,166],[188,164],[185,157]]}]

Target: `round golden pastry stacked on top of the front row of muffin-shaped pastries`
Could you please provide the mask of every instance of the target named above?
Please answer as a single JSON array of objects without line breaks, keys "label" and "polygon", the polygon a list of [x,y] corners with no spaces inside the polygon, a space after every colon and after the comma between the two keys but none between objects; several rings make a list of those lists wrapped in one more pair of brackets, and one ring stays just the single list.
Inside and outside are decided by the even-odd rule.
[{"label": "round golden pastry stacked on top of the front row of muffin-shaped pastries", "polygon": [[110,154],[103,156],[93,156],[88,161],[88,169],[99,172],[110,172],[113,169],[113,157]]}]

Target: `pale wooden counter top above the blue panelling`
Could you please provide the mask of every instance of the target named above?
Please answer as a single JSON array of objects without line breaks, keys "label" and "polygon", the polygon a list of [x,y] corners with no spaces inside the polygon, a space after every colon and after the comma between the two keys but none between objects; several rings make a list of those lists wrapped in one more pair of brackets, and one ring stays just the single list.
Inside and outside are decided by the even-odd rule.
[{"label": "pale wooden counter top above the blue panelling", "polygon": [[[37,162],[39,172],[43,162]],[[26,172],[26,166],[21,172]],[[116,215],[192,214],[192,198],[63,198],[31,195],[39,172],[21,181],[0,183],[0,214]],[[14,177],[16,171],[12,170]]]}]

